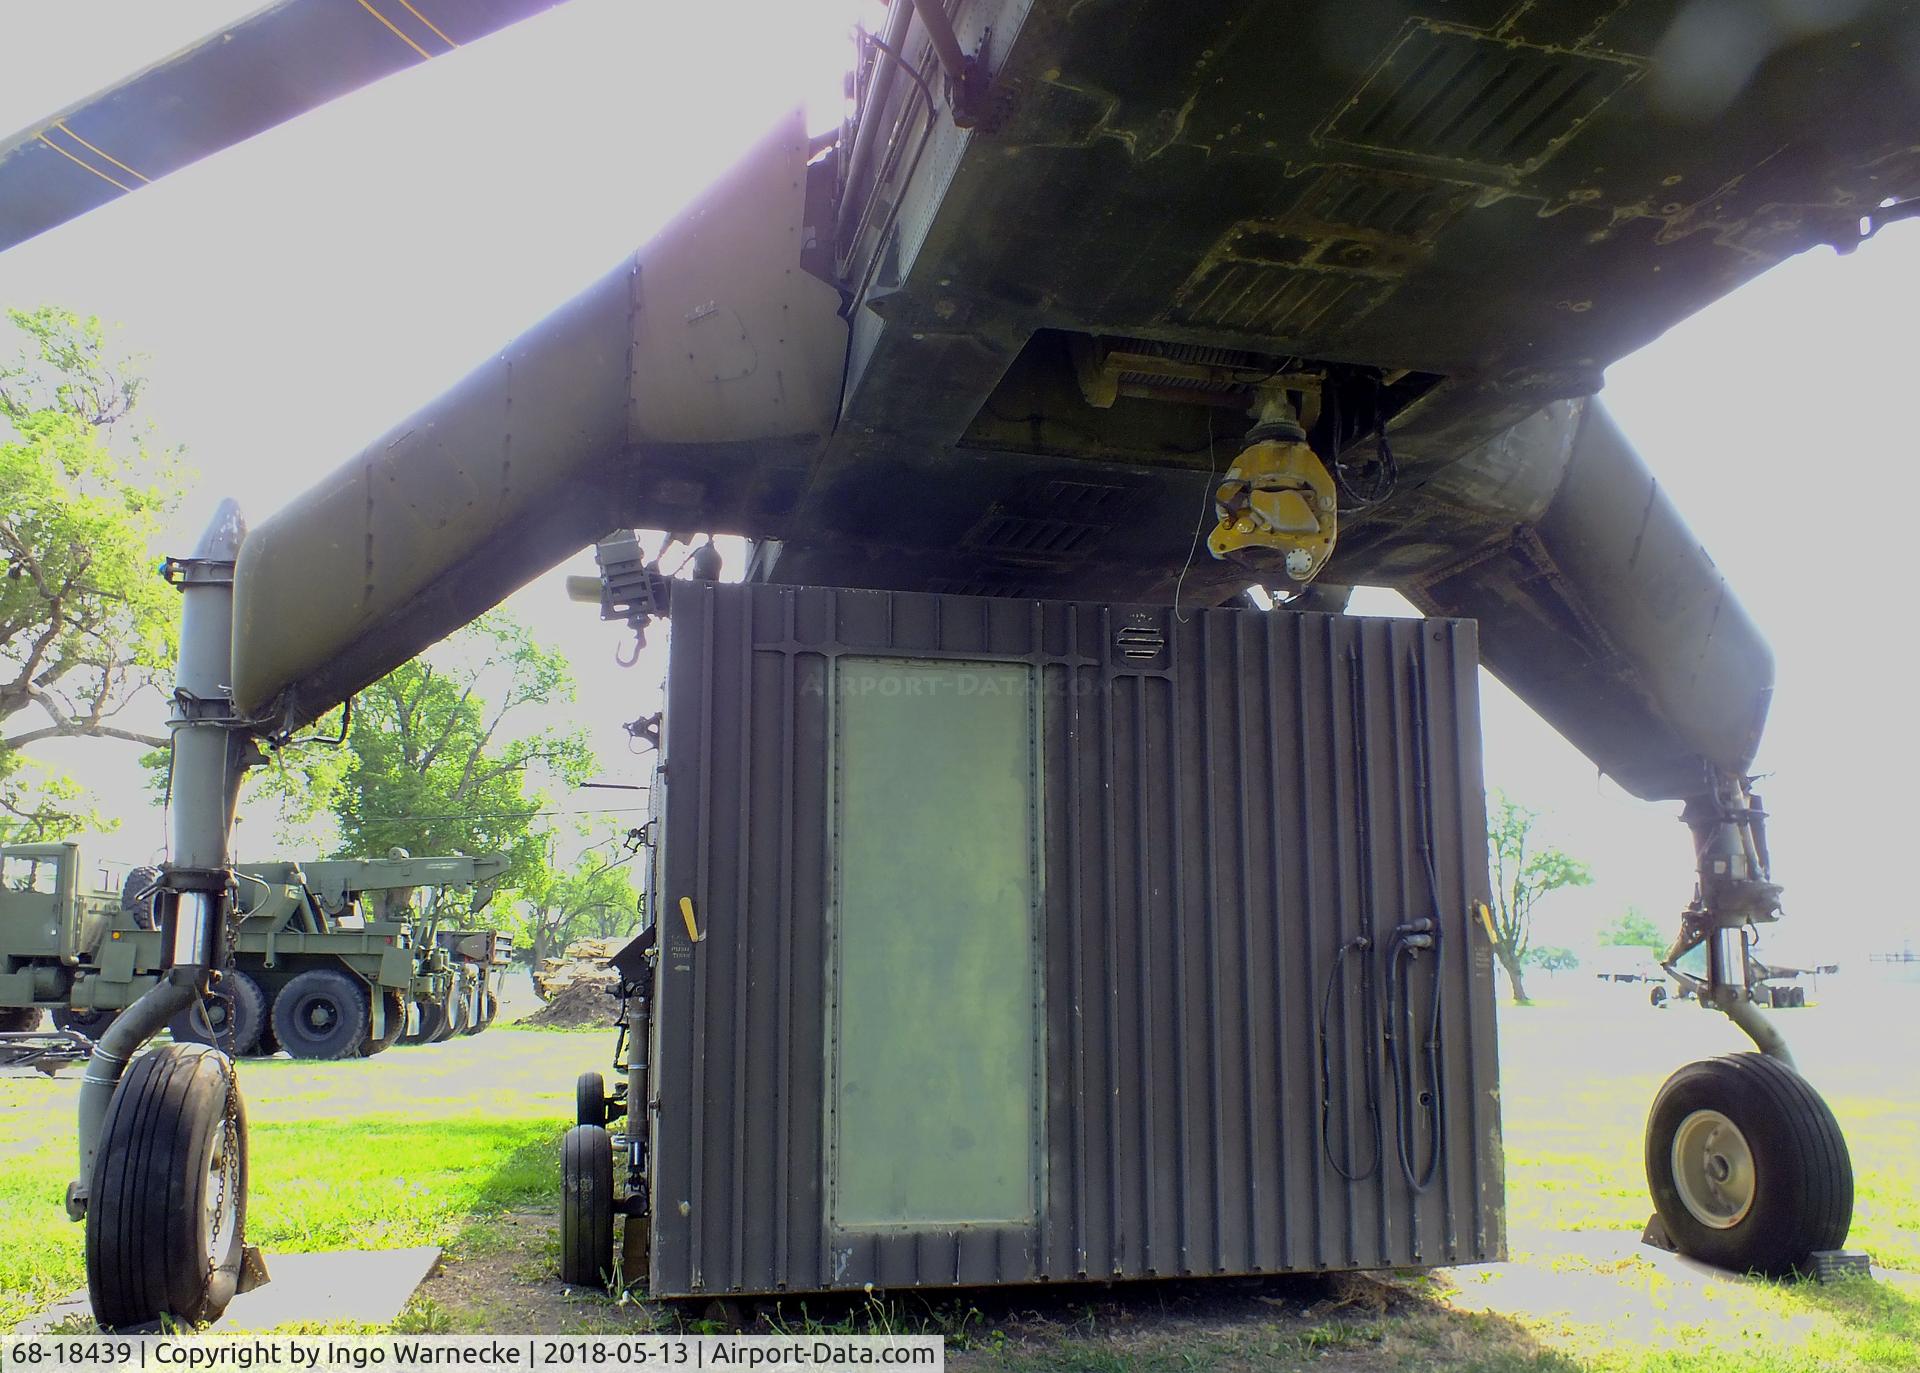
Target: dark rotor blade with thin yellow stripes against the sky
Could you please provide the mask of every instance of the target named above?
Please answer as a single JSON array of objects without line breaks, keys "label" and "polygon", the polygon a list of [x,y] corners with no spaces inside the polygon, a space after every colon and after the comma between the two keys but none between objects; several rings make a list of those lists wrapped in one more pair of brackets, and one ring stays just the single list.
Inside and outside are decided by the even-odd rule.
[{"label": "dark rotor blade with thin yellow stripes against the sky", "polygon": [[0,142],[0,252],[561,0],[276,0]]}]

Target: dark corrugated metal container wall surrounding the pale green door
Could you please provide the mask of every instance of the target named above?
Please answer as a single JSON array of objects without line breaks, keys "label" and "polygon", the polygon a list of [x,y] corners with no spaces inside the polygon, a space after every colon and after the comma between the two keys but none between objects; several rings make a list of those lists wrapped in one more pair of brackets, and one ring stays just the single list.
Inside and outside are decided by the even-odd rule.
[{"label": "dark corrugated metal container wall surrounding the pale green door", "polygon": [[[1492,956],[1469,918],[1486,895],[1471,622],[678,584],[672,636],[657,1294],[1501,1256]],[[1027,662],[1041,678],[1044,1158],[1031,1227],[829,1231],[841,655]],[[1428,830],[1440,976],[1432,954],[1415,960],[1411,1043],[1438,985],[1446,1146],[1415,1192],[1398,1162],[1382,983],[1392,929],[1434,914]],[[682,897],[699,943],[672,914]],[[1359,933],[1371,949],[1346,956],[1325,1000],[1323,1093],[1323,999]],[[1008,976],[1027,966],[1008,962]],[[1379,979],[1371,999],[1361,966]],[[1421,1169],[1419,1106],[1407,1123]]]}]

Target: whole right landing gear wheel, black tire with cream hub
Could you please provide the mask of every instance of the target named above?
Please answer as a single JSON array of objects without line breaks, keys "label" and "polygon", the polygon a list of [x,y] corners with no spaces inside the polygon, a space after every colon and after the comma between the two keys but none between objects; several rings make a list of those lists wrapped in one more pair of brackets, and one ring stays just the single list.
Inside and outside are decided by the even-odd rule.
[{"label": "whole right landing gear wheel, black tire with cream hub", "polygon": [[1764,1054],[1688,1064],[1647,1116],[1647,1189],[1682,1254],[1788,1275],[1839,1248],[1853,1160],[1834,1112]]}]

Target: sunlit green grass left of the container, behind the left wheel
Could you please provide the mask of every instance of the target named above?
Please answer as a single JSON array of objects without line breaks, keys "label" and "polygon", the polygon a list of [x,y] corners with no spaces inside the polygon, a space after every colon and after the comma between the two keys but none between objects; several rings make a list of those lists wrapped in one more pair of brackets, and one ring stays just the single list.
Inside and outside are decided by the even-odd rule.
[{"label": "sunlit green grass left of the container, behind the left wheel", "polygon": [[[252,1135],[248,1241],[265,1250],[442,1244],[484,1252],[499,1216],[551,1208],[574,1077],[609,1031],[499,1027],[344,1064],[240,1068]],[[0,1077],[0,1329],[84,1285],[73,1175],[79,1072]]]}]

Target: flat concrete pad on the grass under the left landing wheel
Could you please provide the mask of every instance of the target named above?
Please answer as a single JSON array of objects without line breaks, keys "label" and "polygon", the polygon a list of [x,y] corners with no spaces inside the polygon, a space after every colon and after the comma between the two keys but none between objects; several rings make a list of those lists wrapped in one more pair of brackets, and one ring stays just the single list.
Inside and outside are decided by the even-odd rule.
[{"label": "flat concrete pad on the grass under the left landing wheel", "polygon": [[[392,1325],[434,1265],[440,1248],[330,1250],[324,1254],[267,1254],[271,1283],[242,1292],[217,1319],[215,1331],[267,1331],[276,1325],[353,1321]],[[15,1335],[92,1329],[86,1289],[21,1321]]]}]

